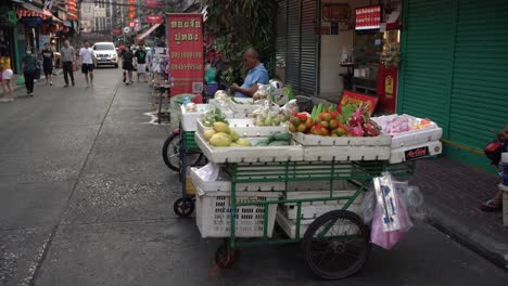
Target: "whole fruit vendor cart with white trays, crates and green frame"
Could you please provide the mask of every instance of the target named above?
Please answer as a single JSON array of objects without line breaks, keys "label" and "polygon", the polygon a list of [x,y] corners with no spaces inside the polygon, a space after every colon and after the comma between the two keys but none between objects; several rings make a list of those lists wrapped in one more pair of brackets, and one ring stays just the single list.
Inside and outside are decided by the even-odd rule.
[{"label": "whole fruit vendor cart with white trays, crates and green frame", "polygon": [[187,197],[183,208],[189,216],[195,203],[202,237],[224,238],[215,253],[217,265],[231,268],[242,247],[302,243],[312,271],[329,280],[353,275],[367,261],[370,232],[360,217],[360,202],[373,178],[384,171],[410,176],[412,146],[424,145],[427,156],[439,154],[441,147],[435,145],[439,141],[427,142],[427,135],[410,136],[412,145],[397,142],[395,148],[389,134],[354,138],[302,132],[293,133],[284,145],[258,144],[285,128],[241,122],[230,123],[229,132],[257,146],[226,147],[213,145],[207,131],[209,127],[198,121],[194,139],[192,133],[183,135],[182,147],[199,147],[220,168],[219,174],[206,181],[192,168],[195,202]]}]

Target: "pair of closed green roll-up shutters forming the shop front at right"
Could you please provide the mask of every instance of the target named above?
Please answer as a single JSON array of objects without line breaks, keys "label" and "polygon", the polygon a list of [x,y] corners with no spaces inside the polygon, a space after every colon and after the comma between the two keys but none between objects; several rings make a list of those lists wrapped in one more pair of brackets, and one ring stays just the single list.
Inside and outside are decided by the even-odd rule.
[{"label": "pair of closed green roll-up shutters forming the shop front at right", "polygon": [[508,2],[404,0],[397,112],[443,127],[445,154],[487,170],[508,122]]}]

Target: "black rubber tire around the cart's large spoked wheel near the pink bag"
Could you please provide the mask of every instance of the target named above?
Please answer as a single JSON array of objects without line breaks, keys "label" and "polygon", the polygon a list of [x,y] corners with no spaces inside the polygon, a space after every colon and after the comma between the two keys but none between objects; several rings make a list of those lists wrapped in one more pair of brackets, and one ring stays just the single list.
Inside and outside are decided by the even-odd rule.
[{"label": "black rubber tire around the cart's large spoked wheel near the pink bag", "polygon": [[[351,265],[345,269],[341,270],[339,272],[327,272],[319,266],[317,266],[314,261],[313,261],[313,244],[315,243],[314,235],[315,233],[319,230],[319,227],[332,220],[338,220],[338,219],[346,219],[351,221],[352,223],[356,224],[358,229],[360,230],[361,236],[365,239],[365,244],[363,244],[363,252],[358,255],[355,261],[351,263]],[[367,225],[364,224],[364,221],[358,217],[358,214],[347,211],[347,210],[333,210],[330,212],[327,212],[320,217],[318,217],[310,225],[308,226],[307,231],[305,232],[304,238],[303,238],[303,248],[304,248],[304,253],[307,260],[308,266],[313,270],[313,272],[323,278],[323,280],[340,280],[340,278],[345,278],[351,275],[354,275],[357,273],[361,266],[365,264],[367,261],[369,253],[370,253],[370,232]],[[346,249],[347,247],[345,247]]]}]

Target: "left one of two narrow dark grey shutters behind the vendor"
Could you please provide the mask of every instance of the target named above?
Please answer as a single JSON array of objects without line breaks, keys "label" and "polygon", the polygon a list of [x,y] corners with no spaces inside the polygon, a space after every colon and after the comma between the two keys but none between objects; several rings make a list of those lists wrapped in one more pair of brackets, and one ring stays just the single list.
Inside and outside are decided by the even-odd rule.
[{"label": "left one of two narrow dark grey shutters behind the vendor", "polygon": [[285,56],[285,81],[295,90],[300,89],[300,22],[301,1],[288,5],[288,50]]}]

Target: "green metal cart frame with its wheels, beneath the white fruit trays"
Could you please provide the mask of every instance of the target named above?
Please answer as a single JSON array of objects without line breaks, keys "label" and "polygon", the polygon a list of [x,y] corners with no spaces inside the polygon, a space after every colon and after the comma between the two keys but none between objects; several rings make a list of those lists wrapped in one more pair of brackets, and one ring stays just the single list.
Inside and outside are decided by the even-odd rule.
[{"label": "green metal cart frame with its wheels, beneath the white fruit trays", "polygon": [[[393,176],[409,176],[414,172],[414,162],[389,165],[388,161],[287,161],[257,164],[226,164],[226,171],[231,178],[230,198],[230,235],[225,238],[215,255],[219,268],[231,268],[239,255],[238,249],[246,246],[265,244],[288,244],[302,242],[308,265],[322,278],[343,278],[356,273],[366,262],[370,252],[370,234],[363,219],[348,210],[361,192],[367,191],[374,177],[383,171]],[[340,180],[354,182],[357,186],[352,195],[334,196],[333,184]],[[288,184],[303,181],[329,181],[328,196],[288,199]],[[237,185],[252,182],[283,182],[278,199],[264,202],[237,202]],[[262,193],[262,192],[261,192]],[[302,205],[317,202],[343,200],[341,207],[319,216],[310,224],[304,225],[301,220]],[[269,237],[269,206],[281,204],[296,205],[294,237],[272,232]],[[237,220],[239,209],[249,206],[263,206],[263,235],[261,237],[238,237]],[[302,235],[303,233],[303,235]]]}]

